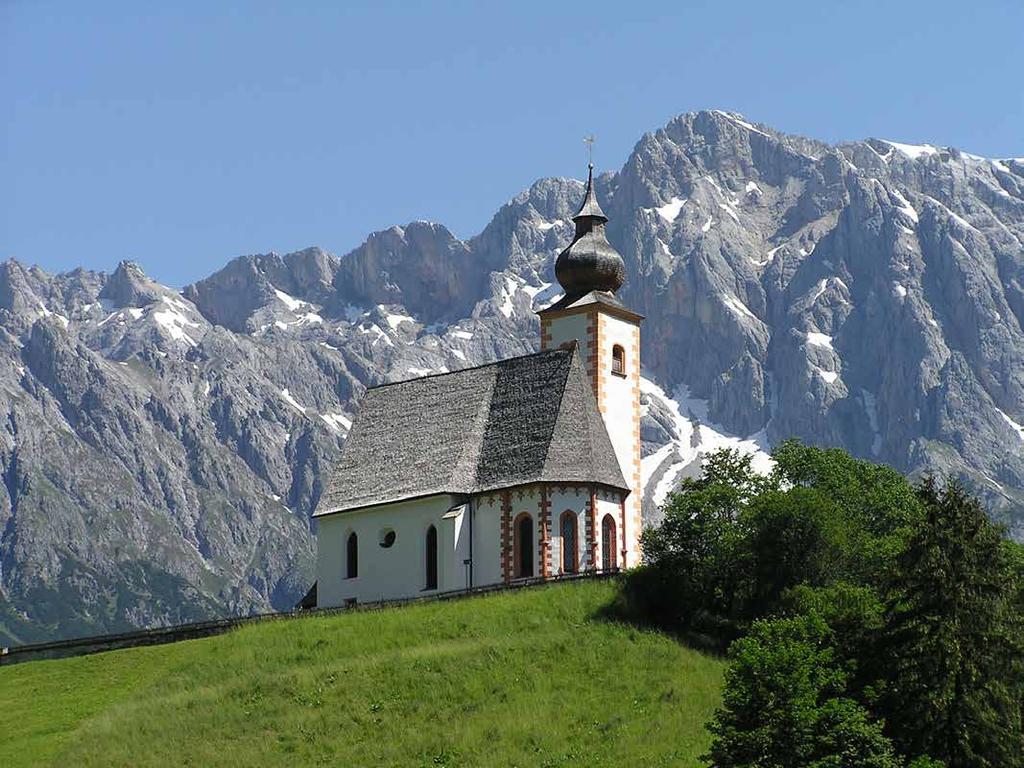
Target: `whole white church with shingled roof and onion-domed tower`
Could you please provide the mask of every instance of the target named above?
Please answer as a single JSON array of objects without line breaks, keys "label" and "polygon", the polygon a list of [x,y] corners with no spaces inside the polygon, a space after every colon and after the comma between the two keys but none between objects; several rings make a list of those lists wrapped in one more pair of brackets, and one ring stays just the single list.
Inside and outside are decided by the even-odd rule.
[{"label": "whole white church with shingled roof and onion-domed tower", "polygon": [[639,562],[640,323],[587,189],[541,351],[367,390],[313,517],[316,604]]}]

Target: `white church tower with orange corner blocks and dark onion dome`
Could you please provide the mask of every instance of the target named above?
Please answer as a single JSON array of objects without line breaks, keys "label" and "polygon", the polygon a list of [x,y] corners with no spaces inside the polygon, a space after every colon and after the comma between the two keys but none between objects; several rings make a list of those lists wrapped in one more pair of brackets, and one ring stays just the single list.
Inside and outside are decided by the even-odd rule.
[{"label": "white church tower with orange corner blocks and dark onion dome", "polygon": [[623,257],[604,231],[608,217],[597,202],[594,166],[575,216],[575,236],[555,261],[555,278],[565,291],[542,309],[541,348],[573,341],[586,355],[594,397],[615,450],[630,495],[623,503],[618,562],[640,562],[640,323],[643,316],[615,297],[626,280]]}]

